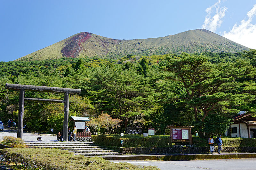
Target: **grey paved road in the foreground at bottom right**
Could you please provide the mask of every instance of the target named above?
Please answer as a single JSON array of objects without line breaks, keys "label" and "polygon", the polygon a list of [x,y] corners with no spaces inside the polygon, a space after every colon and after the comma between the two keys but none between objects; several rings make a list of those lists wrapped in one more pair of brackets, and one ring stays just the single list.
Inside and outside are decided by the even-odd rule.
[{"label": "grey paved road in the foreground at bottom right", "polygon": [[152,165],[162,170],[255,170],[256,158],[248,159],[211,159],[189,161],[135,161],[135,160],[110,160],[111,162],[128,162],[134,165]]}]

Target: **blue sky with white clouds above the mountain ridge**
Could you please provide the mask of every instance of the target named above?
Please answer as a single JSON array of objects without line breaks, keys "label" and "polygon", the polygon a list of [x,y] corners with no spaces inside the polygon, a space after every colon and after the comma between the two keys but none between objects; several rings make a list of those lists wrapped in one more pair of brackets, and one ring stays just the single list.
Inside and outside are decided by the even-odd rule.
[{"label": "blue sky with white clouds above the mountain ridge", "polygon": [[79,32],[114,39],[164,37],[205,28],[256,48],[255,0],[0,0],[0,61]]}]

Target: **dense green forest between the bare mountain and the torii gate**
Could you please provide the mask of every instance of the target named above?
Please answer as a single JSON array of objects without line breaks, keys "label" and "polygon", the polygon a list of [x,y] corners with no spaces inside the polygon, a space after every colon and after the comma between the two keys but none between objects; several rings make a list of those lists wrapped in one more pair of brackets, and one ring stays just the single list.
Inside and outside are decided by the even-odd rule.
[{"label": "dense green forest between the bare mountain and the torii gate", "polygon": [[[125,127],[164,134],[167,125],[179,125],[194,126],[193,132],[206,138],[223,134],[241,110],[255,115],[256,50],[0,62],[4,124],[18,121],[19,107],[19,92],[6,90],[6,83],[81,89],[80,95],[70,94],[69,116],[89,116],[94,134],[123,133]],[[25,97],[64,99],[64,94],[26,91]],[[63,110],[60,103],[26,101],[24,125],[60,130]]]}]

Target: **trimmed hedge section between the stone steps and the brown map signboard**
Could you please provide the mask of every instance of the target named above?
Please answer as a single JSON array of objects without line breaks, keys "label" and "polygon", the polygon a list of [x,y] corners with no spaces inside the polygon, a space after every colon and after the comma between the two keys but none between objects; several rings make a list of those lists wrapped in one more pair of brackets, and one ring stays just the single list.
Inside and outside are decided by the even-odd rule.
[{"label": "trimmed hedge section between the stone steps and the brown map signboard", "polygon": [[[124,135],[123,147],[170,147],[168,135]],[[93,135],[94,144],[121,147],[120,135]]]}]

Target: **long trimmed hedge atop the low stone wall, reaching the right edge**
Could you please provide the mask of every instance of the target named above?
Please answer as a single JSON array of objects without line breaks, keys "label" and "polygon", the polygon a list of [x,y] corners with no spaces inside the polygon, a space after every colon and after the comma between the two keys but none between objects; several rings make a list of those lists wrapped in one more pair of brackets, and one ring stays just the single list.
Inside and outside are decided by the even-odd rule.
[{"label": "long trimmed hedge atop the low stone wall, reaching the right edge", "polygon": [[[169,135],[150,135],[148,137],[143,137],[143,135],[124,135],[123,147],[171,147],[169,144]],[[214,142],[215,142],[214,137]],[[93,135],[92,141],[94,144],[103,146],[115,146],[121,147],[122,144],[120,135]],[[256,146],[256,138],[238,138],[238,137],[222,137],[222,142],[224,146],[238,147],[238,146]],[[207,139],[199,138],[198,136],[193,137],[193,144],[197,147],[209,146],[207,144]],[[176,145],[188,144],[175,142]]]}]

